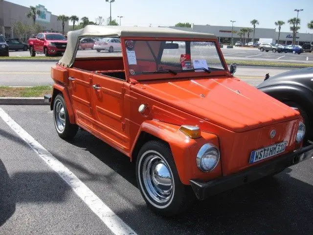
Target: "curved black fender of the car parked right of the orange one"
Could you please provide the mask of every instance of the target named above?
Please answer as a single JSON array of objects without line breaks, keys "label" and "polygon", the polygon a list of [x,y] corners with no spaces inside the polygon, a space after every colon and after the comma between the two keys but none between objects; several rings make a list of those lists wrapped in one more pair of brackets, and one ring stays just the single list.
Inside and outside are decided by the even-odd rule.
[{"label": "curved black fender of the car parked right of the orange one", "polygon": [[304,87],[286,84],[262,87],[259,90],[280,101],[298,103],[310,116],[313,115],[313,93]]}]

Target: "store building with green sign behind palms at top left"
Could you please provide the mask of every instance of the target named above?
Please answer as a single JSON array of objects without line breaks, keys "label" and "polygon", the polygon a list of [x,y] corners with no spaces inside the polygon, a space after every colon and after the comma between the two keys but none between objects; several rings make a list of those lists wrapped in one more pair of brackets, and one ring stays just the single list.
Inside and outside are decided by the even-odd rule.
[{"label": "store building with green sign behind palms at top left", "polygon": [[[38,4],[35,7],[41,11],[41,14],[36,17],[36,22],[45,27],[45,32],[62,33],[62,22],[57,20],[58,16],[52,15],[44,5]],[[29,10],[29,7],[0,0],[0,33],[6,38],[11,38],[14,37],[13,24],[15,22],[33,24],[33,19],[26,16]],[[65,24],[64,30],[66,34],[68,24]]]}]

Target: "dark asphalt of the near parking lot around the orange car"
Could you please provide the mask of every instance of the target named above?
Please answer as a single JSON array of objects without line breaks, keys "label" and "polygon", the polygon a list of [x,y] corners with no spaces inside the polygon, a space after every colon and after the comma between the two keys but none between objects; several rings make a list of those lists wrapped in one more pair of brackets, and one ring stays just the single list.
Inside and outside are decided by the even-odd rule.
[{"label": "dark asphalt of the near parking lot around the orange car", "polygon": [[[196,202],[177,217],[163,218],[146,208],[134,163],[127,157],[85,131],[79,131],[73,141],[61,140],[48,106],[0,108],[134,234],[313,233],[313,159]],[[86,200],[43,161],[41,153],[21,139],[22,129],[18,135],[10,122],[3,121],[3,112],[0,116],[0,234],[112,234]]]}]

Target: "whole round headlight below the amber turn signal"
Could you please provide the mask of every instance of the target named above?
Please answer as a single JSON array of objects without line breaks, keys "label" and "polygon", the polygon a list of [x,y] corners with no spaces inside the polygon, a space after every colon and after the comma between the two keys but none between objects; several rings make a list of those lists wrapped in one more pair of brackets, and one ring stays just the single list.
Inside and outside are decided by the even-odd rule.
[{"label": "whole round headlight below the amber turn signal", "polygon": [[213,144],[204,144],[197,154],[197,166],[204,172],[212,171],[220,161],[220,150]]}]

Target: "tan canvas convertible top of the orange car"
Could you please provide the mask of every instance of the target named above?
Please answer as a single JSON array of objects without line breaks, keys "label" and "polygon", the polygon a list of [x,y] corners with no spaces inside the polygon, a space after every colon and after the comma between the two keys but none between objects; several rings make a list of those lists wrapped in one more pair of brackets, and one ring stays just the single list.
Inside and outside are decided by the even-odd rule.
[{"label": "tan canvas convertible top of the orange car", "polygon": [[166,27],[124,27],[87,25],[85,28],[70,31],[67,34],[67,49],[59,61],[66,67],[70,67],[74,61],[74,52],[78,38],[90,36],[108,37],[159,37],[159,38],[200,38],[216,39],[216,36],[208,33],[187,32]]}]

